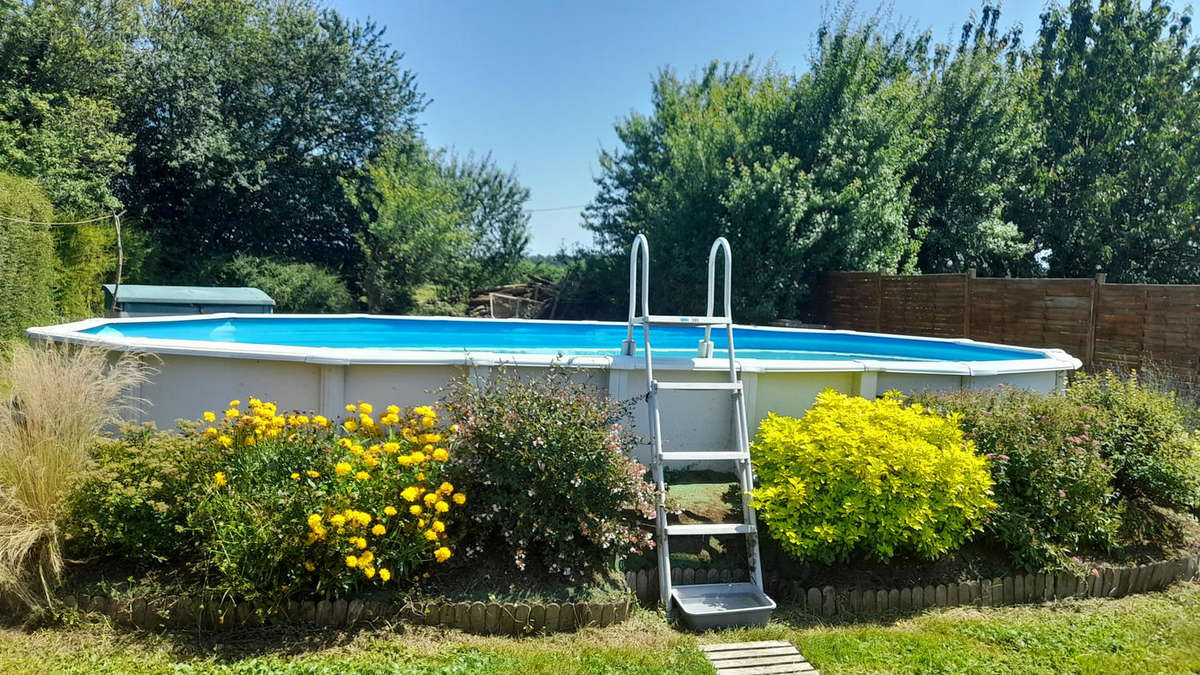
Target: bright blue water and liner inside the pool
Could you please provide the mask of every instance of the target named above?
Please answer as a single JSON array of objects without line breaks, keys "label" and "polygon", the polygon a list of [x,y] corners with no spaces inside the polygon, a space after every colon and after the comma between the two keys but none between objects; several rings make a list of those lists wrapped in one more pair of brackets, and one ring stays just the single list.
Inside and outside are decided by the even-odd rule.
[{"label": "bright blue water and liner inside the pool", "polygon": [[[510,322],[368,317],[235,317],[107,323],[85,329],[100,338],[202,340],[296,347],[384,348],[436,352],[618,356],[624,323]],[[900,336],[833,331],[737,328],[739,358],[797,360],[996,362],[1043,358],[1018,347],[940,342]],[[655,356],[694,357],[703,329],[652,328]],[[635,330],[641,344],[641,328]],[[715,356],[722,357],[725,329],[713,330]]]}]

